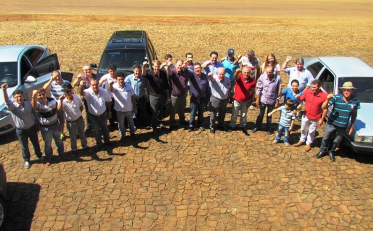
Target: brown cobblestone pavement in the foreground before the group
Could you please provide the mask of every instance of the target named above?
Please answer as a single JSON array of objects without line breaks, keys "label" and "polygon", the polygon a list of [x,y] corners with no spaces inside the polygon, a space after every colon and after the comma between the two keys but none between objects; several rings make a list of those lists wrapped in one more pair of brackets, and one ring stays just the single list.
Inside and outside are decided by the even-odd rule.
[{"label": "brown cobblestone pavement in the foreground before the group", "polygon": [[[249,111],[249,129],[256,115]],[[205,125],[207,116],[205,112]],[[299,135],[296,128],[292,143]],[[318,130],[316,146],[323,134]],[[8,177],[5,228],[373,229],[372,156],[343,149],[331,162],[315,159],[317,148],[307,153],[304,146],[273,145],[274,135],[266,132],[249,133],[213,135],[179,128],[163,130],[155,139],[138,130],[138,142],[128,138],[120,145],[114,131],[110,135],[116,146],[96,154],[70,153],[68,138],[65,157],[55,156],[51,166],[33,160],[30,169],[23,168],[15,135],[1,137],[0,161]],[[94,146],[93,138],[89,145]]]}]

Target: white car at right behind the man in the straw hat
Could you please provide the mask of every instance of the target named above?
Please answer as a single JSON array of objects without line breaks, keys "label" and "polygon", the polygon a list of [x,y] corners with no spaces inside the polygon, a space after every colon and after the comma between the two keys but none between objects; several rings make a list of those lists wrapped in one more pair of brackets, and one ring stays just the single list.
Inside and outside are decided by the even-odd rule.
[{"label": "white car at right behind the man in the straw hat", "polygon": [[[351,81],[353,94],[360,99],[361,108],[354,125],[354,133],[344,135],[343,142],[356,153],[373,154],[373,68],[359,58],[320,57],[305,58],[304,67],[315,79],[320,79],[321,89],[338,94],[344,82]],[[329,108],[329,112],[331,108]]]}]

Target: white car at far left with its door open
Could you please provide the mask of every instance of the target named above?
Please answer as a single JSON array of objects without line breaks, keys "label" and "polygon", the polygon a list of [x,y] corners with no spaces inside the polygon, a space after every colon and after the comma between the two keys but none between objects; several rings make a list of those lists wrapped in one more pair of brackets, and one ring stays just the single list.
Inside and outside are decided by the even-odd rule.
[{"label": "white car at far left with its door open", "polygon": [[[32,91],[41,88],[51,77],[51,72],[60,70],[56,54],[39,45],[0,46],[0,84],[8,83],[7,93],[21,89],[25,100],[31,100]],[[0,135],[14,130],[14,123],[6,110],[4,96],[0,93]]]}]

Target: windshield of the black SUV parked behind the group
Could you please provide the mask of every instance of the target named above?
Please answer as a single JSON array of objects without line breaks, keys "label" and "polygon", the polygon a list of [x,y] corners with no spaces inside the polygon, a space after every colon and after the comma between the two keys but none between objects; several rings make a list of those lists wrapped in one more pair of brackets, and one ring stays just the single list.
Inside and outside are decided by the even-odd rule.
[{"label": "windshield of the black SUV parked behind the group", "polygon": [[[102,56],[99,71],[107,72],[109,64],[114,64],[118,72],[132,72],[132,66],[134,64],[144,63],[148,61],[148,56],[144,49],[118,49],[118,50],[106,50]],[[147,71],[149,71],[149,66]]]}]

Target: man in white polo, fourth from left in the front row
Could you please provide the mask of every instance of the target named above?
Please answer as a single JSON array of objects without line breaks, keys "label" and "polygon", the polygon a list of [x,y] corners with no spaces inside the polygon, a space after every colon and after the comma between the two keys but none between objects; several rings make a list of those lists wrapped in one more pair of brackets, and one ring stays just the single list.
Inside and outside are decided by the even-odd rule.
[{"label": "man in white polo, fourth from left in the front row", "polygon": [[91,86],[88,89],[83,89],[84,83],[84,80],[80,82],[80,93],[87,101],[88,119],[92,124],[96,140],[95,149],[99,151],[102,148],[100,129],[105,145],[112,146],[107,128],[107,120],[111,118],[111,98],[105,89],[99,87],[97,79],[91,79]]}]

